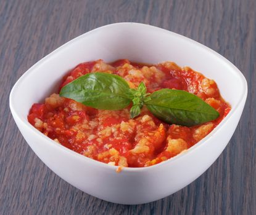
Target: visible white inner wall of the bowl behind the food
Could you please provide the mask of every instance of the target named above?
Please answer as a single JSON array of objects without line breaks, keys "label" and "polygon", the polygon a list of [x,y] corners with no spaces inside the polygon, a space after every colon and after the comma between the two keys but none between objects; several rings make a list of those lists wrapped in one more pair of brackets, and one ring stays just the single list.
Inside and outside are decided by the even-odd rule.
[{"label": "visible white inner wall of the bowl behind the food", "polygon": [[78,63],[99,58],[107,62],[120,58],[141,63],[174,61],[214,79],[221,95],[233,109],[246,96],[244,76],[213,50],[154,26],[116,23],[76,37],[32,66],[12,89],[12,110],[24,123],[28,123],[31,105],[56,92],[56,85],[67,71]]}]

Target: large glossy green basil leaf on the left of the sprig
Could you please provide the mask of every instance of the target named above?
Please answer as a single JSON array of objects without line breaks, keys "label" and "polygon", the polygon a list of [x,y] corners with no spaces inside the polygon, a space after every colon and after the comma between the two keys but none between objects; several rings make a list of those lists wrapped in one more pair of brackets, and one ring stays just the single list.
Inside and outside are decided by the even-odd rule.
[{"label": "large glossy green basil leaf on the left of the sprig", "polygon": [[122,77],[102,72],[78,77],[60,90],[60,96],[71,98],[97,109],[120,110],[126,108],[132,98]]}]

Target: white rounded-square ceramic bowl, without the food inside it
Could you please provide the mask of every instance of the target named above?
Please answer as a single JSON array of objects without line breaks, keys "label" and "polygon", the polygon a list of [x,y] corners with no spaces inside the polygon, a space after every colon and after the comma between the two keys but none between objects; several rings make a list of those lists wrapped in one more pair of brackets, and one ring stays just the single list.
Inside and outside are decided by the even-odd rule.
[{"label": "white rounded-square ceramic bowl, without the food inside it", "polygon": [[[78,63],[120,58],[144,63],[175,61],[214,79],[231,112],[187,152],[144,168],[123,168],[77,154],[44,136],[27,115],[33,103],[56,90],[64,74]],[[115,23],[76,37],[28,69],[10,93],[10,110],[23,137],[38,157],[60,178],[94,197],[122,204],[147,203],[166,197],[204,173],[228,144],[241,117],[247,83],[224,57],[187,37],[139,23]],[[28,184],[28,186],[30,186]]]}]

